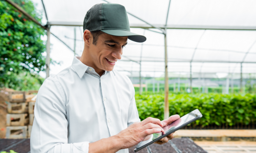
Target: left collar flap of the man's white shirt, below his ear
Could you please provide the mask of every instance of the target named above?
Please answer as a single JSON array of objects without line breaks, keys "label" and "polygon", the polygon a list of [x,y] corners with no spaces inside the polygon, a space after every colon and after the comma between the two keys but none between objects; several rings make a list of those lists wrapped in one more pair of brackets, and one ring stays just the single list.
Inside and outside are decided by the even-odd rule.
[{"label": "left collar flap of the man's white shirt, below his ear", "polygon": [[81,56],[75,56],[72,62],[72,67],[77,72],[80,79],[82,79],[85,71],[87,70],[88,66],[83,64],[79,59]]}]

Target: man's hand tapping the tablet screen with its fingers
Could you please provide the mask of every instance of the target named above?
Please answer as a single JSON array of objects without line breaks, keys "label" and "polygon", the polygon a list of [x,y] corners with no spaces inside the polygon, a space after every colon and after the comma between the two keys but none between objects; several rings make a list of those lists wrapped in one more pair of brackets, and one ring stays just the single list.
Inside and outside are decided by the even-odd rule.
[{"label": "man's hand tapping the tablet screen with its fingers", "polygon": [[147,136],[153,133],[164,132],[161,128],[164,124],[166,123],[152,117],[148,117],[141,122],[133,123],[128,128],[115,135],[119,141],[120,149],[135,146],[141,141],[146,140]]}]

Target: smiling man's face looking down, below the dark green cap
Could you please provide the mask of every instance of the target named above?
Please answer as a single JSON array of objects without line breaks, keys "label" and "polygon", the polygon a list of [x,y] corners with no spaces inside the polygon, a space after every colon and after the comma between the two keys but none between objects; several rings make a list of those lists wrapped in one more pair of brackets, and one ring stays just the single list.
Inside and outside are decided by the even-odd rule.
[{"label": "smiling man's face looking down, below the dark green cap", "polygon": [[128,37],[112,36],[106,33],[99,35],[96,45],[90,45],[90,54],[98,69],[112,71],[116,61],[121,59],[123,48]]}]

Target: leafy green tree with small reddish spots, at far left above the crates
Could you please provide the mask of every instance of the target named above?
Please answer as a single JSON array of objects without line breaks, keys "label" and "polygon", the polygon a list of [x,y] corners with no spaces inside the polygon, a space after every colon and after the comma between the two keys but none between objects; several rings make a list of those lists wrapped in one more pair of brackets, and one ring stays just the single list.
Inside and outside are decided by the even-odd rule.
[{"label": "leafy green tree with small reddish spots, at far left above the crates", "polygon": [[[30,0],[13,1],[41,23],[42,15]],[[0,0],[0,87],[20,90],[42,84],[44,79],[38,74],[45,70],[46,42],[41,40],[45,34],[42,27]]]}]

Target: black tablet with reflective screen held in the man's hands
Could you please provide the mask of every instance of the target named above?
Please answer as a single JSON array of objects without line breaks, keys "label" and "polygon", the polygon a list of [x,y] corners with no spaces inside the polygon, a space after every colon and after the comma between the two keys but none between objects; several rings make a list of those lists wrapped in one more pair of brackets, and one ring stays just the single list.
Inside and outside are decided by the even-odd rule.
[{"label": "black tablet with reflective screen held in the man's hands", "polygon": [[[182,126],[183,124],[186,124],[187,122],[189,122],[192,119],[196,118],[200,114],[201,113],[198,111],[198,109],[196,109],[196,110],[190,112],[189,114],[186,114],[186,115],[182,116],[181,118],[177,119],[176,121],[172,122],[171,124],[168,124],[168,125],[164,126],[163,127],[164,132],[154,133],[152,141],[157,139],[157,138],[159,138],[160,136],[162,136],[162,135],[164,135],[164,134],[166,134],[166,133],[168,133],[168,132],[178,128],[179,126]],[[149,142],[147,142],[147,143],[149,143]],[[144,145],[146,145],[146,143],[145,142],[143,143],[143,141],[141,141],[138,144],[138,146],[136,147],[136,149],[138,149],[138,148],[140,148],[140,147],[142,147]]]}]

